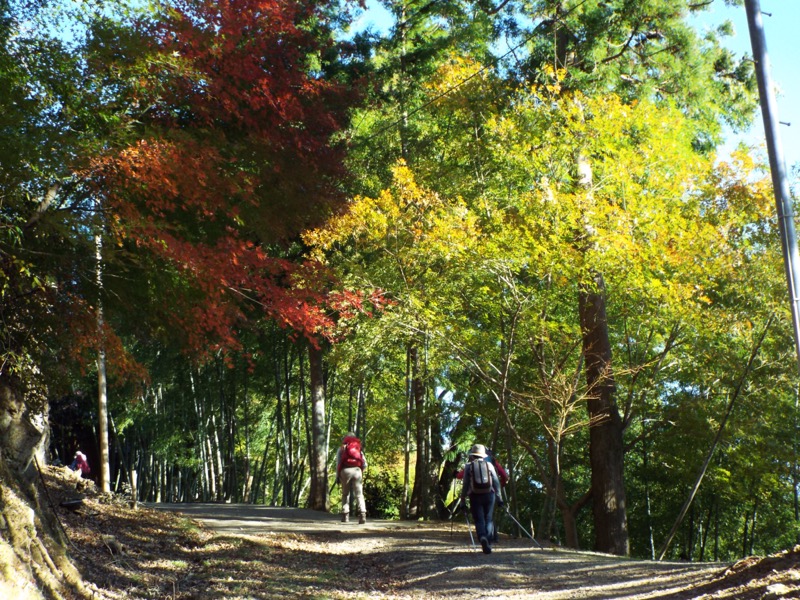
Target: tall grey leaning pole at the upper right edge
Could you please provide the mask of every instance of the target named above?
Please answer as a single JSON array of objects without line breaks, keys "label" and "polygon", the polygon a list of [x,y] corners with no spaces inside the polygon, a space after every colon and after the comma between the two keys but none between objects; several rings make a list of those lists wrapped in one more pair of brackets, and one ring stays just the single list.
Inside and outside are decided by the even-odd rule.
[{"label": "tall grey leaning pole at the upper right edge", "polygon": [[789,298],[792,307],[792,324],[794,326],[794,347],[800,371],[800,258],[797,253],[797,238],[794,229],[794,213],[789,184],[786,180],[786,168],[783,158],[780,135],[778,134],[778,108],[775,92],[769,72],[767,44],[764,39],[764,26],[761,21],[760,0],[745,0],[747,10],[747,26],[750,30],[750,44],[753,48],[753,60],[758,80],[758,95],[761,100],[761,115],[764,118],[764,133],[767,138],[767,153],[772,173],[772,187],[775,192],[775,204],[778,209],[778,227],[781,235],[786,280],[789,284]]}]

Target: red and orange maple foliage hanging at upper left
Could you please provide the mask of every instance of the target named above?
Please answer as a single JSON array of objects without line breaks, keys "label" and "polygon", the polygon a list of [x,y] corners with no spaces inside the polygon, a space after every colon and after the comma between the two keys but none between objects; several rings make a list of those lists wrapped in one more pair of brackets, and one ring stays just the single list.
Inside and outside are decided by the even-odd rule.
[{"label": "red and orange maple foliage hanging at upper left", "polygon": [[113,236],[176,274],[169,319],[195,351],[237,348],[253,311],[316,342],[364,307],[275,251],[343,200],[331,140],[354,95],[315,66],[333,43],[322,8],[175,2],[150,26],[141,135],[92,170]]}]

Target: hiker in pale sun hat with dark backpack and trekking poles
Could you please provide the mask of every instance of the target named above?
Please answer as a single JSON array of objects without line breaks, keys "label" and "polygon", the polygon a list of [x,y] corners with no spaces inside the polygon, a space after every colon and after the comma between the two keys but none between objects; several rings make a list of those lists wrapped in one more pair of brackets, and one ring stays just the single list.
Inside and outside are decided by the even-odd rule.
[{"label": "hiker in pale sun hat with dark backpack and trekking poles", "polygon": [[490,538],[494,531],[494,505],[503,506],[500,495],[500,479],[494,465],[486,460],[486,447],[475,444],[469,451],[469,462],[464,467],[464,485],[461,487],[461,499],[458,508],[469,508],[475,521],[475,533],[481,542],[485,554],[491,554]]}]

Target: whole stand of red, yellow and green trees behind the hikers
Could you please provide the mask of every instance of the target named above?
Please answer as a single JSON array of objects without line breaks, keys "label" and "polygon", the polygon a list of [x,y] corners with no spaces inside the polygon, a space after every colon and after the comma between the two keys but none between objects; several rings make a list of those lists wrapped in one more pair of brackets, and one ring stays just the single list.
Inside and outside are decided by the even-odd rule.
[{"label": "whole stand of red, yellow and green trees behind the hikers", "polygon": [[0,376],[77,426],[105,353],[111,489],[325,509],[352,429],[373,510],[429,518],[479,441],[541,537],[654,556],[738,389],[671,552],[793,543],[768,181],[713,155],[751,75],[688,5],[392,2],[350,42],[314,2],[81,9],[68,41],[26,6]]}]

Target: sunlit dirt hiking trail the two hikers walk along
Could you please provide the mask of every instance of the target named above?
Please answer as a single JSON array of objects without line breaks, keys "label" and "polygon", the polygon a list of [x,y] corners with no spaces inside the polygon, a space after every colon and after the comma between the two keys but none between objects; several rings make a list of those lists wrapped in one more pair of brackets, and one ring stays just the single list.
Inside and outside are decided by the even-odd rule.
[{"label": "sunlit dirt hiking trail the two hikers walk along", "polygon": [[[375,584],[374,589],[365,589],[361,597],[698,598],[702,597],[698,588],[726,567],[540,549],[530,538],[509,536],[501,536],[492,554],[486,555],[480,546],[473,547],[464,520],[368,520],[366,525],[358,525],[342,523],[338,515],[296,508],[236,504],[152,507],[196,519],[217,536],[292,536],[298,549],[344,559],[345,572],[352,563],[359,563],[366,572],[365,584],[368,586],[370,580]],[[694,591],[682,591],[687,588]]]}]

